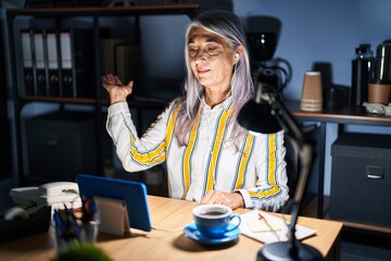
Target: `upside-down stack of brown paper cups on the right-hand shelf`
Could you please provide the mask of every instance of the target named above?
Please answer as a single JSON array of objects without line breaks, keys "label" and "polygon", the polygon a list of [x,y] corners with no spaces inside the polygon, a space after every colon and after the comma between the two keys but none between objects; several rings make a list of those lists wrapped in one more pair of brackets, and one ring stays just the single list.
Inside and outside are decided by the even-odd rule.
[{"label": "upside-down stack of brown paper cups on the right-hand shelf", "polygon": [[323,86],[320,72],[306,72],[304,74],[300,109],[303,111],[323,110]]}]

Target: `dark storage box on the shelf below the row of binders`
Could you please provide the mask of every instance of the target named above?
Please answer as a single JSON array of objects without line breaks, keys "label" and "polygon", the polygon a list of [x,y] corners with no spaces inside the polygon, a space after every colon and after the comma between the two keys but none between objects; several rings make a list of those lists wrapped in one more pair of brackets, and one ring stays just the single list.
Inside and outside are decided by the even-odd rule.
[{"label": "dark storage box on the shelf below the row of binders", "polygon": [[75,182],[97,173],[96,122],[88,113],[54,113],[26,120],[29,176]]}]

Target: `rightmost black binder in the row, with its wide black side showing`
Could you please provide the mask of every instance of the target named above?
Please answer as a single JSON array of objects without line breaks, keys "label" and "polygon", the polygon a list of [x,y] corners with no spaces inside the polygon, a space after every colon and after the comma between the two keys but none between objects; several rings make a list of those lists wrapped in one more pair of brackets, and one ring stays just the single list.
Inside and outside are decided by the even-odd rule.
[{"label": "rightmost black binder in the row, with its wide black side showing", "polygon": [[60,32],[63,97],[94,97],[92,33],[90,28],[73,28]]}]

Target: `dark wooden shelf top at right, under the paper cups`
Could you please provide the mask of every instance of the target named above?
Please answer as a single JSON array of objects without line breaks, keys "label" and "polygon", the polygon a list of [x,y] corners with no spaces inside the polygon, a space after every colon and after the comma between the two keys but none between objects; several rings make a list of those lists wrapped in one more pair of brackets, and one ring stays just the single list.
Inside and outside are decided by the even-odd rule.
[{"label": "dark wooden shelf top at right, under the paper cups", "polygon": [[293,116],[314,122],[391,126],[391,116],[367,113],[364,107],[345,105],[341,109],[325,109],[320,112],[300,110],[300,101],[285,101]]}]

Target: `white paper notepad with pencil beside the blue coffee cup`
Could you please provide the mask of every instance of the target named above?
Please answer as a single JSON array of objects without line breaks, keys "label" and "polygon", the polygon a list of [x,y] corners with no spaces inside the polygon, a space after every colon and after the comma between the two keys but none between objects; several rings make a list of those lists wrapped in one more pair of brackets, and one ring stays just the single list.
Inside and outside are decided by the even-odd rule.
[{"label": "white paper notepad with pencil beside the blue coffee cup", "polygon": [[[257,210],[253,210],[251,212],[240,215],[241,234],[265,244],[279,240],[288,240],[288,226],[281,217],[261,211],[262,215],[266,219],[267,223],[274,229],[273,231],[270,227],[267,226],[265,222],[262,222],[258,219],[258,212],[260,211]],[[315,229],[303,225],[297,225],[295,228],[297,231],[294,235],[299,240],[316,235]]]}]

